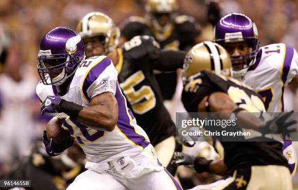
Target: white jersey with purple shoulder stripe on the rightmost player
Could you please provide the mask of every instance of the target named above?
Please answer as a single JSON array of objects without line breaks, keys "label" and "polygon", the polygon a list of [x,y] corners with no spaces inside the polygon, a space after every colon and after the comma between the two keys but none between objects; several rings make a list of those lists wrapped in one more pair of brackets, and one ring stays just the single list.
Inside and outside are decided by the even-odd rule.
[{"label": "white jersey with purple shoulder stripe on the rightmost player", "polygon": [[248,69],[242,82],[261,94],[267,112],[282,112],[284,86],[297,74],[296,50],[285,44],[270,44],[260,48],[255,65]]}]

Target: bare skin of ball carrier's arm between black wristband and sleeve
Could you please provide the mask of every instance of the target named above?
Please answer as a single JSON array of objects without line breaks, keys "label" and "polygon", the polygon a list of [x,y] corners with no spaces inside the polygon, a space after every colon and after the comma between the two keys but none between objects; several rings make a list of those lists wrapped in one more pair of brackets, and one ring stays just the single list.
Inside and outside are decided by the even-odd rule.
[{"label": "bare skin of ball carrier's arm between black wristband and sleeve", "polygon": [[84,106],[77,121],[95,130],[112,131],[118,120],[118,105]]}]

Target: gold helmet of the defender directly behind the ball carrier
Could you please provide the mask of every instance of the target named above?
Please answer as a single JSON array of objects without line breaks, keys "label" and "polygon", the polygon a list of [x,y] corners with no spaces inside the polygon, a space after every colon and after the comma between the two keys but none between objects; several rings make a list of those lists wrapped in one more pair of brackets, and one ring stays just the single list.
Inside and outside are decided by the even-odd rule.
[{"label": "gold helmet of the defender directly behind the ball carrier", "polygon": [[112,18],[100,12],[88,13],[76,26],[76,31],[82,39],[90,37],[104,37],[104,52],[112,52],[118,45],[120,30]]}]

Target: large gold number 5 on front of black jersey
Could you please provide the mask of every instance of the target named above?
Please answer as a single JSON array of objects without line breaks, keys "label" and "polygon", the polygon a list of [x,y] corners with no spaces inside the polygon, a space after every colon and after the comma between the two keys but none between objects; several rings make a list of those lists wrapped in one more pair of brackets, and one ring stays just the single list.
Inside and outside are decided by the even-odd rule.
[{"label": "large gold number 5 on front of black jersey", "polygon": [[145,79],[143,71],[139,70],[132,74],[125,82],[120,84],[126,95],[133,112],[144,114],[155,107],[156,98],[150,86],[143,85],[140,89],[135,90],[134,86],[140,84]]}]

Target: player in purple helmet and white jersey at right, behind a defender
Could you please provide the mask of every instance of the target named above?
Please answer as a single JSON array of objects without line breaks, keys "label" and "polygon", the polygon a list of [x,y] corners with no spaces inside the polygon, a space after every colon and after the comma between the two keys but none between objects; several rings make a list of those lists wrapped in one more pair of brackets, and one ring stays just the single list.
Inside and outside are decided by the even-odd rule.
[{"label": "player in purple helmet and white jersey at right, behind a defender", "polygon": [[[230,54],[233,76],[252,86],[263,97],[267,112],[283,112],[286,85],[298,85],[298,54],[285,44],[259,48],[258,29],[240,13],[223,16],[214,27],[214,41]],[[296,171],[296,153],[290,140],[283,145],[291,174]]]}]

